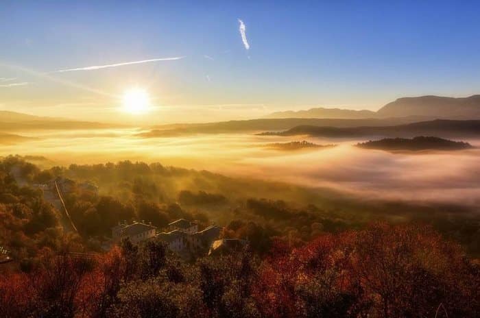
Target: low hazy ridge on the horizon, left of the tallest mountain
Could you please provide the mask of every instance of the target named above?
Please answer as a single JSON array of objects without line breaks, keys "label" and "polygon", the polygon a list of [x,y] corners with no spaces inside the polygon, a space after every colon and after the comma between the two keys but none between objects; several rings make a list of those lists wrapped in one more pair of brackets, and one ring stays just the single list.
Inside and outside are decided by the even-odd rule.
[{"label": "low hazy ridge on the horizon, left of the tallest mountain", "polygon": [[266,118],[328,118],[328,119],[365,119],[376,117],[371,110],[347,110],[340,108],[311,108],[309,110],[287,110],[274,112]]}]

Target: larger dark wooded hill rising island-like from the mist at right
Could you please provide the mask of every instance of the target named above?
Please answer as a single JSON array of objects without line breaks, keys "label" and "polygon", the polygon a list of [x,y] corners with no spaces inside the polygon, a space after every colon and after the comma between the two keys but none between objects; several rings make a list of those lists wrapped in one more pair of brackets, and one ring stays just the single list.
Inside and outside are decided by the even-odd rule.
[{"label": "larger dark wooded hill rising island-like from the mist at right", "polygon": [[418,136],[407,138],[383,138],[358,143],[357,147],[366,149],[381,149],[388,151],[420,151],[420,150],[461,150],[470,149],[472,145],[463,141],[453,141],[437,137]]}]

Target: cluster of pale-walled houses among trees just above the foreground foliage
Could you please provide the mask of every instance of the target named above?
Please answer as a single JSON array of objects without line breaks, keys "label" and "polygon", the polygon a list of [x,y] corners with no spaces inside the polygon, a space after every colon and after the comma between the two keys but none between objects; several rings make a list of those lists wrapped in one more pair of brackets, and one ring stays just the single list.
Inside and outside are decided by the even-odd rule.
[{"label": "cluster of pale-walled houses among trees just above the foreground foliage", "polygon": [[165,232],[157,232],[151,223],[120,223],[112,228],[112,243],[128,237],[133,244],[147,240],[163,241],[171,251],[183,258],[201,255],[226,254],[241,249],[247,241],[235,238],[220,238],[223,228],[211,225],[198,230],[198,224],[186,219],[169,223]]}]

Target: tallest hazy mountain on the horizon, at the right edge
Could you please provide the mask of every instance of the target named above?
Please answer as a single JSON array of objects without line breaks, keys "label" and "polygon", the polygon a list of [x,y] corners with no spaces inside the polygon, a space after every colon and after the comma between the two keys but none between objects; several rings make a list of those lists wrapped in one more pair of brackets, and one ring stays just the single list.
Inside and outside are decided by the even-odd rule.
[{"label": "tallest hazy mountain on the horizon, at the right edge", "polygon": [[480,119],[480,95],[470,97],[403,97],[380,108],[379,117],[425,116],[449,119]]}]

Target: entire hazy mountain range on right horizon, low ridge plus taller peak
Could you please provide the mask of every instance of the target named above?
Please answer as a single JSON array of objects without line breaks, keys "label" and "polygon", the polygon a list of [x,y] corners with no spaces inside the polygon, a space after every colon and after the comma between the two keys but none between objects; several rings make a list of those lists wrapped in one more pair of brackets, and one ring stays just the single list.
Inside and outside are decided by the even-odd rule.
[{"label": "entire hazy mountain range on right horizon, low ridge plus taller peak", "polygon": [[422,117],[429,119],[480,119],[480,95],[454,98],[439,96],[402,97],[376,112],[339,108],[274,112],[267,118],[372,119]]}]

